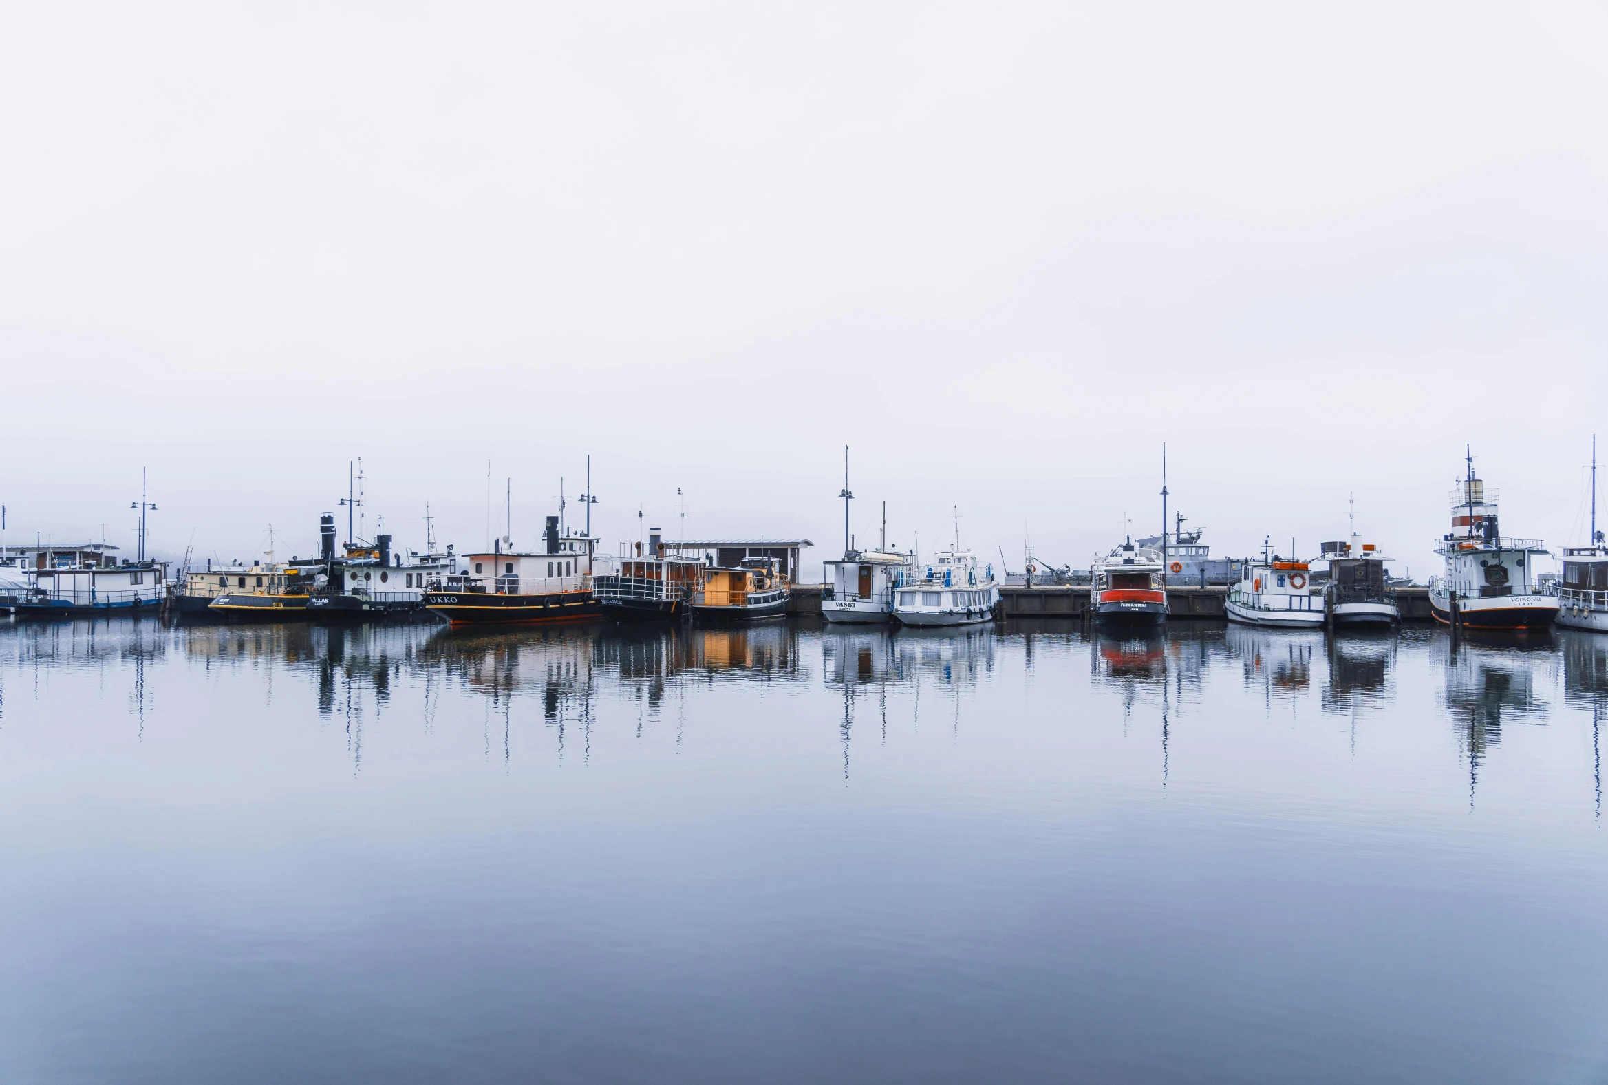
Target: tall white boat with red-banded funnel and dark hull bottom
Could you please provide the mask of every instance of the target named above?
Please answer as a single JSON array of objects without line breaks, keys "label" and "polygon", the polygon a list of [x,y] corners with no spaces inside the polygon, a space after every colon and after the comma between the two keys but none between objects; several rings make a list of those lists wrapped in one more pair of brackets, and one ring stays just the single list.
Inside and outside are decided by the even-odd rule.
[{"label": "tall white boat with red-banded funnel and dark hull bottom", "polygon": [[1442,575],[1430,577],[1434,620],[1463,628],[1547,628],[1560,601],[1532,587],[1536,558],[1547,555],[1539,538],[1503,538],[1497,527],[1497,493],[1475,477],[1475,458],[1452,497],[1452,530],[1436,540]]}]

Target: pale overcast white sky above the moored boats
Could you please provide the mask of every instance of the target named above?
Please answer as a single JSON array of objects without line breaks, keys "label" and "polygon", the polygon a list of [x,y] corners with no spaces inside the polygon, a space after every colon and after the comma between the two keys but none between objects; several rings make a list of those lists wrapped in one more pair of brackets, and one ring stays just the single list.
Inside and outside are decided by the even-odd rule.
[{"label": "pale overcast white sky above the moored boats", "polygon": [[[0,16],[10,538],[224,559],[370,513],[515,543],[855,532],[1087,566],[1359,527],[1465,442],[1584,538],[1595,5],[35,5]],[[1605,437],[1608,437],[1608,426]],[[1605,448],[1608,457],[1608,448]],[[1603,516],[1608,522],[1608,510]]]}]

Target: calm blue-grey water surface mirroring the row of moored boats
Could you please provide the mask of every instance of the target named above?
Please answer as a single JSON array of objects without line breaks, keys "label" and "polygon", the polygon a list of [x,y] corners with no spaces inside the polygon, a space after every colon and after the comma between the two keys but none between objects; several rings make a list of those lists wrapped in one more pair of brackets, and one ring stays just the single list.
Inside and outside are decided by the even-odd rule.
[{"label": "calm blue-grey water surface mirroring the row of moored boats", "polygon": [[0,1080],[1605,1082],[1605,706],[1561,632],[3,625]]}]

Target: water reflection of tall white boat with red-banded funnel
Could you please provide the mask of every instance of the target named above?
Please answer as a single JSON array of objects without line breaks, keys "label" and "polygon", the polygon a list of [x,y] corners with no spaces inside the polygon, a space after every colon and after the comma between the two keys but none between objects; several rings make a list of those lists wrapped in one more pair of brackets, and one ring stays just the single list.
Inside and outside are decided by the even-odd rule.
[{"label": "water reflection of tall white boat with red-banded funnel", "polygon": [[1441,704],[1457,731],[1458,754],[1466,757],[1473,804],[1479,765],[1502,743],[1502,725],[1547,722],[1552,704],[1545,690],[1557,685],[1557,651],[1547,630],[1491,632],[1455,641],[1436,637],[1430,657],[1446,675]]}]

